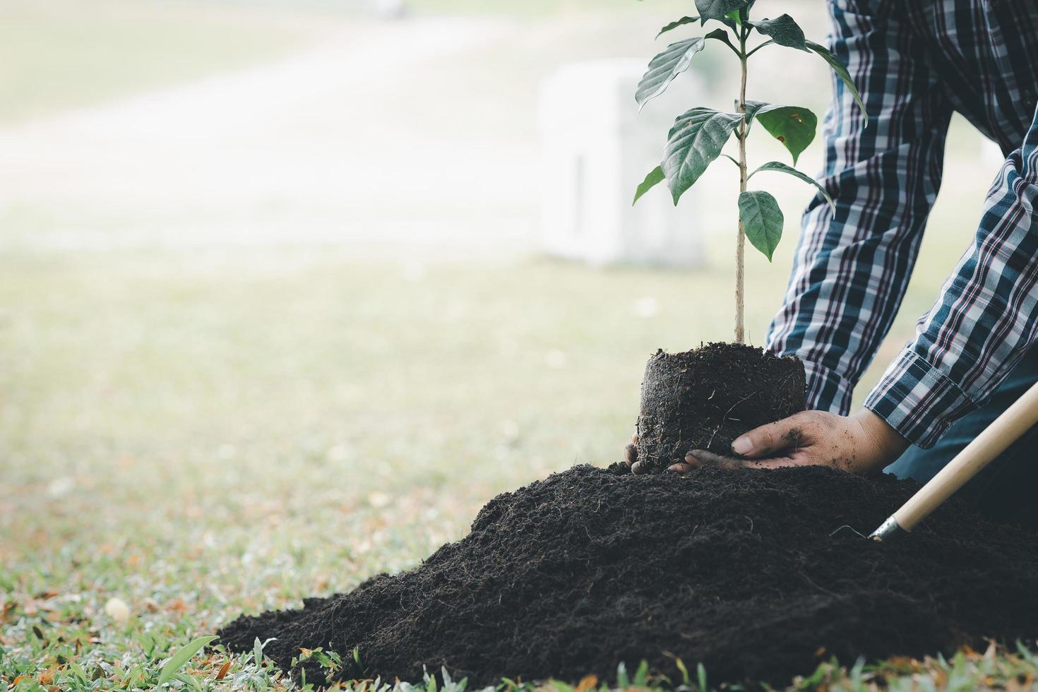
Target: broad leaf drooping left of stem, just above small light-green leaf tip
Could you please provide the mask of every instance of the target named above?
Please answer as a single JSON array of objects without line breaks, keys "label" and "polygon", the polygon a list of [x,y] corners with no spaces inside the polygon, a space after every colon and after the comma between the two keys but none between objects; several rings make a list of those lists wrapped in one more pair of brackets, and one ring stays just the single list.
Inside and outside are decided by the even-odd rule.
[{"label": "broad leaf drooping left of stem, just above small light-green leaf tip", "polygon": [[720,155],[740,122],[741,113],[721,113],[712,108],[693,108],[674,121],[662,168],[675,204]]}]

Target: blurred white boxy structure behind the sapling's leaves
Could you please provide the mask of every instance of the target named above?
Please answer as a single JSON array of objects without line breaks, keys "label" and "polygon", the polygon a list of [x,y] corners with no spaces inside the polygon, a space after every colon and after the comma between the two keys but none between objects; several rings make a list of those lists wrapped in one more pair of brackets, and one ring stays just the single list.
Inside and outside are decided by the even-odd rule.
[{"label": "blurred white boxy structure behind the sapling's leaves", "polygon": [[[694,189],[675,207],[661,183],[631,205],[678,114],[650,107],[638,114],[634,89],[644,72],[640,60],[600,60],[544,80],[542,247],[549,254],[592,265],[702,261]],[[695,85],[692,74],[681,79],[686,89]]]}]

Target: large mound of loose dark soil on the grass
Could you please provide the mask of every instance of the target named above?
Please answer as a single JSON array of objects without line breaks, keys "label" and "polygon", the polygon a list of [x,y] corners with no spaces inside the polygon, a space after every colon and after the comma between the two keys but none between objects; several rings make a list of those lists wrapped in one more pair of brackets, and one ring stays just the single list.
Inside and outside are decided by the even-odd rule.
[{"label": "large mound of loose dark soil on the grass", "polygon": [[479,685],[611,680],[643,659],[675,679],[673,657],[702,662],[713,684],[784,684],[834,655],[1033,641],[1038,535],[953,500],[898,543],[829,536],[875,528],[917,489],[825,468],[580,466],[494,498],[467,536],[410,572],[219,634],[236,651],[277,637],[266,652],[285,668],[323,646],[347,661],[343,679],[415,681],[445,666]]}]

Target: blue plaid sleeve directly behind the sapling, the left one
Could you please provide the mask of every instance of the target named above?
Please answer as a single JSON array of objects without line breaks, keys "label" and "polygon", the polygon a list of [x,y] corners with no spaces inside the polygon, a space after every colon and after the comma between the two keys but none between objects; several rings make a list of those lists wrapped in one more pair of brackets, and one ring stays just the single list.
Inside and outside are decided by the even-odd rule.
[{"label": "blue plaid sleeve directly behind the sapling, the left one", "polygon": [[836,209],[819,197],[809,205],[766,337],[770,350],[804,362],[809,406],[843,414],[907,286],[940,184],[952,113],[901,12],[890,3],[873,3],[885,8],[870,12],[868,4],[829,2],[829,48],[862,93],[869,124],[834,79],[821,182]]}]

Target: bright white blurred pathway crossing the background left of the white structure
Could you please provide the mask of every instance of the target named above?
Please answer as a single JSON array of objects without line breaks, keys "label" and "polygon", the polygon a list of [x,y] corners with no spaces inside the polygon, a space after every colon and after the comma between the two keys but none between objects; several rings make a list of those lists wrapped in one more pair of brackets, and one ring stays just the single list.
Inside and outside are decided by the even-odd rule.
[{"label": "bright white blurred pathway crossing the background left of the white structure", "polygon": [[461,243],[488,221],[521,238],[536,147],[466,140],[481,84],[437,70],[515,31],[364,23],[276,64],[0,129],[0,247]]}]

